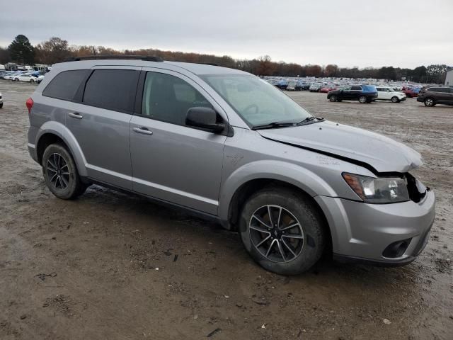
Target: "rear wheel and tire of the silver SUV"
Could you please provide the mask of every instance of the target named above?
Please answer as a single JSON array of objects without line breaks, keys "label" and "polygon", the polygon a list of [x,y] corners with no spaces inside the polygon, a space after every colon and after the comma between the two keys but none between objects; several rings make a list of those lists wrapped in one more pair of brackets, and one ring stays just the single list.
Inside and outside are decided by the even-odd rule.
[{"label": "rear wheel and tire of the silver SUV", "polygon": [[87,187],[81,182],[74,159],[62,145],[49,145],[41,165],[47,188],[57,198],[71,200],[85,192]]}]

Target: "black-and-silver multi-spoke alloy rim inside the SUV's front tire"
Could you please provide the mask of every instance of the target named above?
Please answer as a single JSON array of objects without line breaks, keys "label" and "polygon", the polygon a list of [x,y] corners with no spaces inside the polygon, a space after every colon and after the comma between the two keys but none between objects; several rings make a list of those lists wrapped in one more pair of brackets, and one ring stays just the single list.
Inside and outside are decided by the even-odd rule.
[{"label": "black-and-silver multi-spoke alloy rim inside the SUV's front tire", "polygon": [[302,225],[280,205],[263,205],[248,222],[253,246],[266,259],[287,263],[297,258],[304,247]]}]

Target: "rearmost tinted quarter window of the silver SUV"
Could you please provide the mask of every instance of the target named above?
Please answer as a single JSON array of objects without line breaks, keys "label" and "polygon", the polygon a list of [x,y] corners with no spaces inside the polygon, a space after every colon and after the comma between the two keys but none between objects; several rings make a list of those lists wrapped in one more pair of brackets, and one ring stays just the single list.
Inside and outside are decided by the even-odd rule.
[{"label": "rearmost tinted quarter window of the silver SUV", "polygon": [[76,69],[57,74],[42,91],[42,96],[71,101],[88,71],[88,69]]}]

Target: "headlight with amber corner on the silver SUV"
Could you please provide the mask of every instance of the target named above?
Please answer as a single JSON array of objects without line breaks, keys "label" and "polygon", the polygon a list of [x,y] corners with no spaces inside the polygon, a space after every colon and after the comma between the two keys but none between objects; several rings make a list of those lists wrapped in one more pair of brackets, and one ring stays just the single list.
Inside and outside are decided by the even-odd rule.
[{"label": "headlight with amber corner on the silver SUV", "polygon": [[365,203],[398,203],[409,200],[406,181],[398,177],[368,177],[343,173],[343,179]]}]

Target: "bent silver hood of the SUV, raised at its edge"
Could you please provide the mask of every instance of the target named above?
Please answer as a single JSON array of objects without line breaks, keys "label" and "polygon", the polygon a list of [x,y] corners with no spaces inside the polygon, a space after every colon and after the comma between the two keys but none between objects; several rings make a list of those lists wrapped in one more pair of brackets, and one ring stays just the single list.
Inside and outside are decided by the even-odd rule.
[{"label": "bent silver hood of the SUV, raised at its edge", "polygon": [[423,164],[418,152],[374,132],[329,121],[292,128],[257,130],[270,140],[349,159],[374,172],[407,172]]}]

